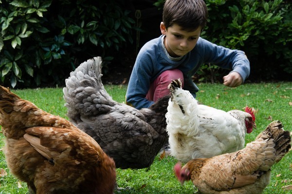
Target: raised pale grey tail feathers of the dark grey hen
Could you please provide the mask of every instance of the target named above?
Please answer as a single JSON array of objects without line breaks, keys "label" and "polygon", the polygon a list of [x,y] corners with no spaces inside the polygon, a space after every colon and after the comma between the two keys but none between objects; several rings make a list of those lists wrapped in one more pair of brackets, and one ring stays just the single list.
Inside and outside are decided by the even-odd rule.
[{"label": "raised pale grey tail feathers of the dark grey hen", "polygon": [[63,97],[68,108],[67,116],[71,120],[80,120],[81,114],[92,116],[105,113],[108,106],[116,103],[102,84],[101,68],[101,57],[94,57],[80,64],[65,80]]}]

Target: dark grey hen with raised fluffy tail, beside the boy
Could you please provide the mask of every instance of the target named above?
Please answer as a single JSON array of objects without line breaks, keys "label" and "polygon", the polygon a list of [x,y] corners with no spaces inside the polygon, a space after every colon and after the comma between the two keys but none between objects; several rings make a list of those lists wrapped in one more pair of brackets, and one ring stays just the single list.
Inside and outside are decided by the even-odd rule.
[{"label": "dark grey hen with raised fluffy tail, beside the boy", "polygon": [[101,68],[101,57],[94,57],[70,73],[63,88],[67,115],[113,158],[117,168],[149,167],[168,141],[165,113],[170,96],[141,110],[118,103],[102,84]]}]

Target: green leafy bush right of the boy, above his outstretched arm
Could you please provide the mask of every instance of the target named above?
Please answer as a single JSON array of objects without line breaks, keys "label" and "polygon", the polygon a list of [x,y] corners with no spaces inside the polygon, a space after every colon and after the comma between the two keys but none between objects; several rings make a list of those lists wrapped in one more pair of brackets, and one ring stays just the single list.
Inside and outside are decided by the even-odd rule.
[{"label": "green leafy bush right of the boy, above his outstretched arm", "polygon": [[250,80],[292,80],[292,1],[206,0],[206,4],[209,22],[203,36],[245,51],[251,62]]}]

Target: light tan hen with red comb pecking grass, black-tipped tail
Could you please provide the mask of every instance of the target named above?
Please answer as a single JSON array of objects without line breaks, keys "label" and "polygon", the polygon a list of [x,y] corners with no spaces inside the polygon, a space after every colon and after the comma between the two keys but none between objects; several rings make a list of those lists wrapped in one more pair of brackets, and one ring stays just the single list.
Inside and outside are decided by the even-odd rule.
[{"label": "light tan hen with red comb pecking grass, black-tipped tail", "polygon": [[192,180],[203,194],[261,194],[270,182],[271,167],[291,148],[290,131],[273,121],[254,142],[230,154],[193,159],[174,170],[183,183]]}]

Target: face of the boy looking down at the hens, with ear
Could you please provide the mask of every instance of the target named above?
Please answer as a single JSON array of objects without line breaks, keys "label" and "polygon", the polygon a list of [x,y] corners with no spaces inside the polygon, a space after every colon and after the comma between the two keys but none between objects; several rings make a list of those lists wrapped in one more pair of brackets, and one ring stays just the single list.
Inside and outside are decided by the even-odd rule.
[{"label": "face of the boy looking down at the hens, with ear", "polygon": [[181,29],[179,25],[174,24],[166,30],[164,23],[161,22],[160,24],[161,33],[166,35],[164,38],[164,46],[171,57],[186,55],[195,48],[201,35],[201,27],[191,32]]}]

